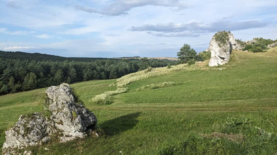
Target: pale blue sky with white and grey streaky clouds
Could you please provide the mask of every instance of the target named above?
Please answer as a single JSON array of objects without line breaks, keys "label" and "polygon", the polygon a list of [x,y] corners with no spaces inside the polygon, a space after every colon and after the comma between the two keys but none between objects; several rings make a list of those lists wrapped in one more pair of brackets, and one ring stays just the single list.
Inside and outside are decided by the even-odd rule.
[{"label": "pale blue sky with white and grey streaky clouds", "polygon": [[176,57],[212,35],[277,39],[277,0],[0,0],[0,50],[65,57]]}]

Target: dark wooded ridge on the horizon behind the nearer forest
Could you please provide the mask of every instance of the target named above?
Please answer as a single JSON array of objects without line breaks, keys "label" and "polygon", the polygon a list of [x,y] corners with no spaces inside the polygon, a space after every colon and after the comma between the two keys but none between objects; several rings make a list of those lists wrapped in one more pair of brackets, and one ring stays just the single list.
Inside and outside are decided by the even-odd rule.
[{"label": "dark wooded ridge on the horizon behind the nearer forest", "polygon": [[92,61],[97,59],[109,59],[109,58],[82,58],[82,57],[61,57],[50,54],[41,54],[41,53],[26,53],[26,52],[6,52],[0,51],[0,58],[4,59],[22,59],[22,60],[35,60],[35,61]]}]

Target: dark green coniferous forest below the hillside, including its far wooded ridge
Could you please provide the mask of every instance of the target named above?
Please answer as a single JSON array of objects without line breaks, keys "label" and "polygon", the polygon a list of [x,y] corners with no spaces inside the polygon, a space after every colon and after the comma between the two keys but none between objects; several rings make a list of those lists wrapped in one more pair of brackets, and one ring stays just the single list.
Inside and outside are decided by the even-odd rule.
[{"label": "dark green coniferous forest below the hillside, including its far wooded ridge", "polygon": [[0,95],[60,83],[116,79],[147,67],[164,67],[168,60],[66,58],[48,54],[0,51]]}]

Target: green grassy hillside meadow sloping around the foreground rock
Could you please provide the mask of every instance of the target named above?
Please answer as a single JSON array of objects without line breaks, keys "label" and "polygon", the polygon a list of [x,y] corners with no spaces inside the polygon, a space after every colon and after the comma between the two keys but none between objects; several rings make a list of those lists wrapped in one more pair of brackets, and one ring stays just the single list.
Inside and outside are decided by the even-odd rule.
[{"label": "green grassy hillside meadow sloping around the foreground rock", "polygon": [[[72,84],[105,134],[31,148],[38,154],[276,154],[277,48],[233,51],[228,64],[179,70],[133,81],[110,105],[91,99],[116,80]],[[159,69],[157,69],[159,70]],[[136,75],[133,75],[136,76]],[[176,85],[143,90],[171,81]],[[40,112],[46,88],[0,96],[0,147],[4,131],[21,114]],[[44,150],[44,147],[50,150]],[[1,152],[0,152],[1,153]]]}]

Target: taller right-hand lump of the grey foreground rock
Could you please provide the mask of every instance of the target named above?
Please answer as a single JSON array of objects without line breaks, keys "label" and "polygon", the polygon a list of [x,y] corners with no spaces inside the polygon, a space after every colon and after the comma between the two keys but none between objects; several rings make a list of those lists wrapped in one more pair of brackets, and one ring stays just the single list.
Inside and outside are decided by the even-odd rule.
[{"label": "taller right-hand lump of the grey foreground rock", "polygon": [[[68,84],[52,86],[46,90],[49,101],[48,110],[55,126],[68,137],[83,137],[87,127],[93,128],[97,119],[82,104],[75,103],[72,88]],[[64,138],[61,138],[64,139]]]}]

